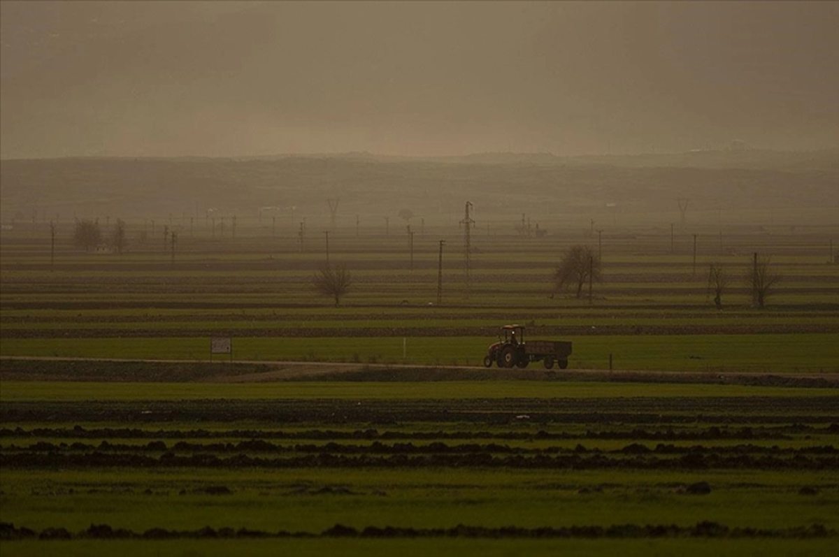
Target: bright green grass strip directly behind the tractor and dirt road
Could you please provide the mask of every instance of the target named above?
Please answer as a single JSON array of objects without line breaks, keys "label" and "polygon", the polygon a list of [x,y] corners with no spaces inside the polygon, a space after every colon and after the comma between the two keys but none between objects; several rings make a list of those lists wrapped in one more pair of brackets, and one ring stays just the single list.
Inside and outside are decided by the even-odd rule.
[{"label": "bright green grass strip directly behind the tractor and dirt road", "polygon": [[[221,330],[219,330],[221,334]],[[839,372],[834,334],[579,336],[571,368],[693,372]],[[330,337],[233,339],[238,361],[409,363],[480,366],[488,337]],[[405,348],[405,351],[404,351]],[[404,354],[406,357],[403,357]],[[0,355],[209,360],[209,339],[0,339]],[[534,364],[534,368],[540,368]]]}]

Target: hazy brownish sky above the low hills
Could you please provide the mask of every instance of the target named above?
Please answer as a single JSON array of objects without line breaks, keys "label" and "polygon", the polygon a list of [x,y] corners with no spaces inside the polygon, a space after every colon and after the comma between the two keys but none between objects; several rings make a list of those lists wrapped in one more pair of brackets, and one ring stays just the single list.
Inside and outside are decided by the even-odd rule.
[{"label": "hazy brownish sky above the low hills", "polygon": [[839,3],[0,2],[0,155],[839,146]]}]

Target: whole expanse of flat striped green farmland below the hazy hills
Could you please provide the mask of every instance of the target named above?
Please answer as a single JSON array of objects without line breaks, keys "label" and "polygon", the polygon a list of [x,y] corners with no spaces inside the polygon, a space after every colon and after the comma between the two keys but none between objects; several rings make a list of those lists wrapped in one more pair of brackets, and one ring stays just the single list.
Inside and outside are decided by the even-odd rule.
[{"label": "whole expanse of flat striped green farmland below the hazy hills", "polygon": [[[320,230],[182,220],[174,258],[139,219],[122,255],[81,252],[68,221],[54,258],[45,223],[3,231],[0,523],[73,539],[2,525],[0,553],[835,554],[835,226],[706,219],[695,270],[690,233],[671,251],[639,213],[576,299],[551,274],[597,245],[587,218],[543,238],[493,218],[468,283],[456,219],[429,219],[413,269],[404,233],[338,226],[338,307],[312,288]],[[784,275],[763,309],[753,252]],[[570,369],[483,368],[507,323],[572,341]],[[214,336],[232,363],[209,362]]]}]

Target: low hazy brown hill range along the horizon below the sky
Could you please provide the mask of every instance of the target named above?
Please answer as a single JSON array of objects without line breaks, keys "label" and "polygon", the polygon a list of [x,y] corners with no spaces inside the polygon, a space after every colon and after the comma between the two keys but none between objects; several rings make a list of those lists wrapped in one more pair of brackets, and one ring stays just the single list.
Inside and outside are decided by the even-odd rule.
[{"label": "low hazy brown hill range along the horizon below the sky", "polygon": [[[278,155],[255,159],[31,159],[0,163],[0,216],[163,218],[170,214],[326,220],[339,214],[382,219],[400,209],[456,223],[471,200],[483,218],[580,216],[619,207],[691,211],[839,209],[839,150],[812,153],[708,151],[638,157],[560,158],[476,154],[401,159],[367,153]],[[266,209],[268,208],[268,209]],[[278,212],[279,211],[279,212]],[[834,213],[835,215],[835,213]],[[661,218],[651,216],[654,220]],[[835,216],[833,217],[835,224]],[[561,219],[560,219],[561,220]]]}]

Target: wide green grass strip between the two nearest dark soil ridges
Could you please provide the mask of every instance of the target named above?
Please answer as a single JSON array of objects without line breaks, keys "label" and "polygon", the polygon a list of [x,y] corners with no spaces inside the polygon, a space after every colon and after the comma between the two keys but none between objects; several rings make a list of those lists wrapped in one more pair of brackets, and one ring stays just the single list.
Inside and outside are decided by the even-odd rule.
[{"label": "wide green grass strip between the two nearest dark soil ridges", "polygon": [[[10,471],[0,485],[4,513],[29,528],[91,523],[144,530],[247,525],[264,530],[320,532],[335,523],[354,528],[498,528],[622,523],[789,528],[823,523],[839,528],[836,473],[805,472],[773,482],[774,472],[697,471]],[[691,497],[675,486],[706,481],[713,491]],[[193,493],[223,485],[230,496]],[[821,487],[817,504],[797,494]],[[833,487],[831,487],[831,485]],[[300,487],[340,486],[346,495],[300,494]],[[745,487],[743,487],[745,486]],[[602,491],[578,492],[581,487]],[[180,490],[187,492],[180,495]],[[93,492],[91,492],[91,490]],[[150,493],[145,492],[150,490]]]}]

